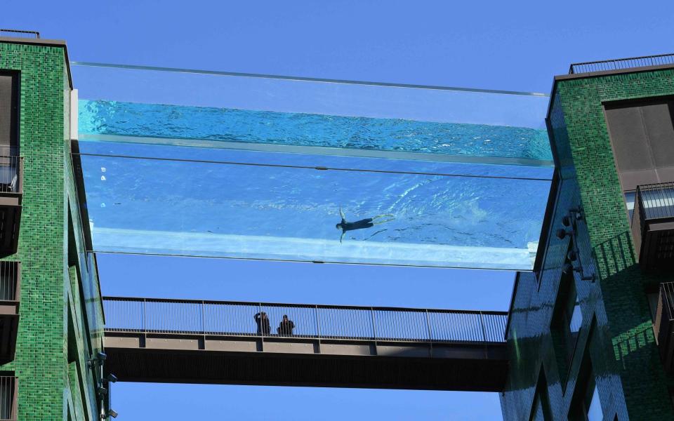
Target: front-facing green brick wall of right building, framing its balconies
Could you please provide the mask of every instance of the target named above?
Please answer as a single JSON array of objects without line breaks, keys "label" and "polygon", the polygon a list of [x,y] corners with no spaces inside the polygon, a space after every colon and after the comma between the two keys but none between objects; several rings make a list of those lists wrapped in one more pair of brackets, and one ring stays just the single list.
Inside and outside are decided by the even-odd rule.
[{"label": "front-facing green brick wall of right building, framing its balconies", "polygon": [[645,288],[674,274],[645,276],[635,260],[625,199],[616,171],[603,102],[674,95],[674,69],[557,82],[568,147],[586,212],[590,247],[630,419],[674,420],[652,331]]}]

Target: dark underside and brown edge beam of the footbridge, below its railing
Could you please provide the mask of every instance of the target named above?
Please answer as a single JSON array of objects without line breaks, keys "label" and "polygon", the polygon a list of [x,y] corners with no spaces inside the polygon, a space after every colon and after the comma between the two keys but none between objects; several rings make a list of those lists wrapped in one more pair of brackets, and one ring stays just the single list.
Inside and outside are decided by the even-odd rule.
[{"label": "dark underside and brown edge beam of the footbridge, below its railing", "polygon": [[105,332],[105,367],[125,382],[500,392],[504,343]]}]

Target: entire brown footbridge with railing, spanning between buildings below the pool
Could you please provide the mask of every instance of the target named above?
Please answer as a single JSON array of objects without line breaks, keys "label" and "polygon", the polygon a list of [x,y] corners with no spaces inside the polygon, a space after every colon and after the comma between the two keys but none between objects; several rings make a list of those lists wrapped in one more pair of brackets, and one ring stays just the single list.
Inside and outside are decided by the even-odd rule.
[{"label": "entire brown footbridge with railing, spanning between buildings below the pool", "polygon": [[[496,392],[506,312],[103,298],[121,381]],[[266,314],[270,330],[258,328]],[[292,334],[279,334],[286,314]],[[263,323],[264,324],[264,323]]]}]

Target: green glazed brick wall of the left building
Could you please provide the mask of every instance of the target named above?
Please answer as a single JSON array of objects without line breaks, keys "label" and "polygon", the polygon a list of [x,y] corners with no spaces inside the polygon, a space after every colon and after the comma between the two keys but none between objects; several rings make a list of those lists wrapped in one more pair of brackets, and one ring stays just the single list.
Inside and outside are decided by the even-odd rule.
[{"label": "green glazed brick wall of the left building", "polygon": [[[20,420],[65,420],[69,406],[76,419],[96,420],[98,401],[86,360],[93,349],[100,349],[103,316],[96,301],[95,266],[84,258],[79,243],[79,273],[88,285],[84,293],[92,313],[85,329],[99,334],[91,335],[92,342],[79,340],[77,361],[68,361],[68,307],[75,293],[67,269],[67,204],[73,203],[74,209],[79,204],[70,163],[65,51],[60,46],[0,42],[0,69],[20,71],[20,154],[25,166],[18,252],[6,258],[22,262],[18,338],[15,360],[0,370],[14,371],[18,377]],[[81,224],[79,215],[74,220]],[[81,227],[75,230],[81,236]],[[84,326],[85,308],[71,307],[79,326]],[[77,390],[71,389],[74,375]]]}]

